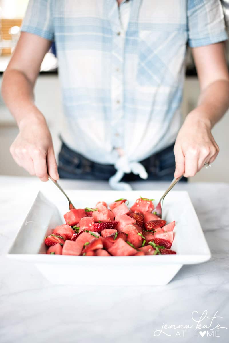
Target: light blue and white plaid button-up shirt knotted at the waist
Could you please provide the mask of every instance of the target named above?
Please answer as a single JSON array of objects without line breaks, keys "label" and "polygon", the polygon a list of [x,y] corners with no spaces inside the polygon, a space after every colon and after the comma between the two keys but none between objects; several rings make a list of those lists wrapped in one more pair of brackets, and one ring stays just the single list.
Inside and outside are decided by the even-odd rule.
[{"label": "light blue and white plaid button-up shirt knotted at the waist", "polygon": [[31,0],[22,31],[55,40],[62,137],[114,164],[113,187],[131,170],[147,178],[138,162],[175,141],[187,44],[227,39],[219,0]]}]

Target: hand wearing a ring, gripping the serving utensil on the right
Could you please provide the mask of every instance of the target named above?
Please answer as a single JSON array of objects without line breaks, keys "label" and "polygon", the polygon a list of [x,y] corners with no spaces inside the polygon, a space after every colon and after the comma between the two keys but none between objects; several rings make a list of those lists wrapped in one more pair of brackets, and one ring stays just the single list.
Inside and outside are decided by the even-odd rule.
[{"label": "hand wearing a ring, gripping the serving utensil on the right", "polygon": [[182,174],[194,176],[205,163],[215,161],[219,153],[211,133],[210,120],[203,118],[196,110],[185,119],[174,145],[176,170],[174,177]]}]

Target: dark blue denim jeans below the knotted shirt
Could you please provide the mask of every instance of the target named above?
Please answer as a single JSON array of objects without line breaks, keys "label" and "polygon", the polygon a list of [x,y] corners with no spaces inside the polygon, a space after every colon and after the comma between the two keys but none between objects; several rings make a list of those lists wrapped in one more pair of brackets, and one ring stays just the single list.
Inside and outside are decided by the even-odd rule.
[{"label": "dark blue denim jeans below the knotted shirt", "polygon": [[[175,170],[175,158],[173,146],[149,156],[141,161],[148,173],[150,181],[171,181]],[[116,173],[116,169],[111,164],[100,164],[90,161],[81,154],[69,149],[62,143],[59,153],[58,173],[63,179],[82,179],[82,180],[108,180]],[[133,173],[125,174],[121,181],[139,181],[142,180]],[[182,178],[181,181],[187,181]]]}]

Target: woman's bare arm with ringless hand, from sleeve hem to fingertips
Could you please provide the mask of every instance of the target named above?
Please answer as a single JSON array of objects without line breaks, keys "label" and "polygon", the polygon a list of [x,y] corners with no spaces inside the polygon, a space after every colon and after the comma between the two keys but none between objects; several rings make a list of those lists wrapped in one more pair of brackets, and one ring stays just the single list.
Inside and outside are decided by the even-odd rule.
[{"label": "woman's bare arm with ringless hand, from sleeve hem to fingertips", "polygon": [[59,178],[52,138],[33,95],[41,62],[50,45],[47,39],[23,32],[2,82],[3,99],[19,126],[10,152],[17,164],[43,181],[48,180],[47,172],[54,179]]}]

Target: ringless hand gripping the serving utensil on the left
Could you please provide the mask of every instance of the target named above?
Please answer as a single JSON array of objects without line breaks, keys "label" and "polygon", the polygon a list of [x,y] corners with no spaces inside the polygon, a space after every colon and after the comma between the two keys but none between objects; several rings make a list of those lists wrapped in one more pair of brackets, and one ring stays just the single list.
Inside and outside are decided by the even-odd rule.
[{"label": "ringless hand gripping the serving utensil on the left", "polygon": [[43,115],[26,117],[20,122],[10,153],[19,166],[41,181],[48,180],[48,173],[53,179],[59,179],[52,137]]}]

